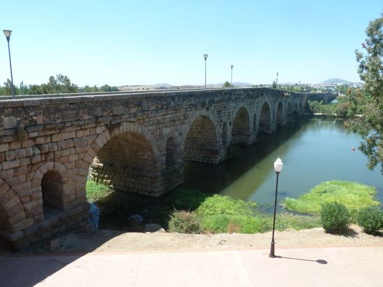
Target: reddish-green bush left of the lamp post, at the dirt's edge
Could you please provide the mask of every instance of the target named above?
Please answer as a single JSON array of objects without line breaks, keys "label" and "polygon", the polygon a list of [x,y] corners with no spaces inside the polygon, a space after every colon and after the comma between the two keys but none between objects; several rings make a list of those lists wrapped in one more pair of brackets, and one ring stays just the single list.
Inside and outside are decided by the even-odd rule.
[{"label": "reddish-green bush left of the lamp post, at the dirt's edge", "polygon": [[169,231],[178,233],[201,233],[201,223],[194,212],[175,210],[170,217]]}]

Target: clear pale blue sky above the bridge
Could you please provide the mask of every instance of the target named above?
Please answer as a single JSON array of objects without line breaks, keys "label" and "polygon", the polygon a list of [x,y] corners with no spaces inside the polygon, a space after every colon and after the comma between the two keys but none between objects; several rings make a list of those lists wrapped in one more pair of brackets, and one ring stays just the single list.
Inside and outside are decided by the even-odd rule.
[{"label": "clear pale blue sky above the bridge", "polygon": [[[359,81],[361,48],[382,0],[3,1],[15,84],[59,73],[79,86],[230,81]],[[0,36],[0,84],[10,77]]]}]

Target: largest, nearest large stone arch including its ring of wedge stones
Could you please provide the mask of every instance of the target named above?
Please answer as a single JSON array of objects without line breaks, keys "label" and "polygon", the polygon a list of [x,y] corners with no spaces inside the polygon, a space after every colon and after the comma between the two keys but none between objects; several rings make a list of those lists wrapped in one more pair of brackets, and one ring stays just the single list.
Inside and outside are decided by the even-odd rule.
[{"label": "largest, nearest large stone arch including its ring of wedge stones", "polygon": [[120,191],[158,196],[164,189],[161,171],[166,162],[162,156],[146,127],[122,122],[99,134],[83,160],[91,164],[95,181]]}]

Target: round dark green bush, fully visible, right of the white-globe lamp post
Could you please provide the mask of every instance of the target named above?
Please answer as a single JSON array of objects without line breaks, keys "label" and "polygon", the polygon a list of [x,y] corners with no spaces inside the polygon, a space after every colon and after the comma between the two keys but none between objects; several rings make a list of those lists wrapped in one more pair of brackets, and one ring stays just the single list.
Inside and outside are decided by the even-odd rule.
[{"label": "round dark green bush, fully visible, right of the white-globe lamp post", "polygon": [[325,203],[320,212],[322,227],[330,233],[345,231],[350,225],[350,212],[343,203],[338,201]]}]

